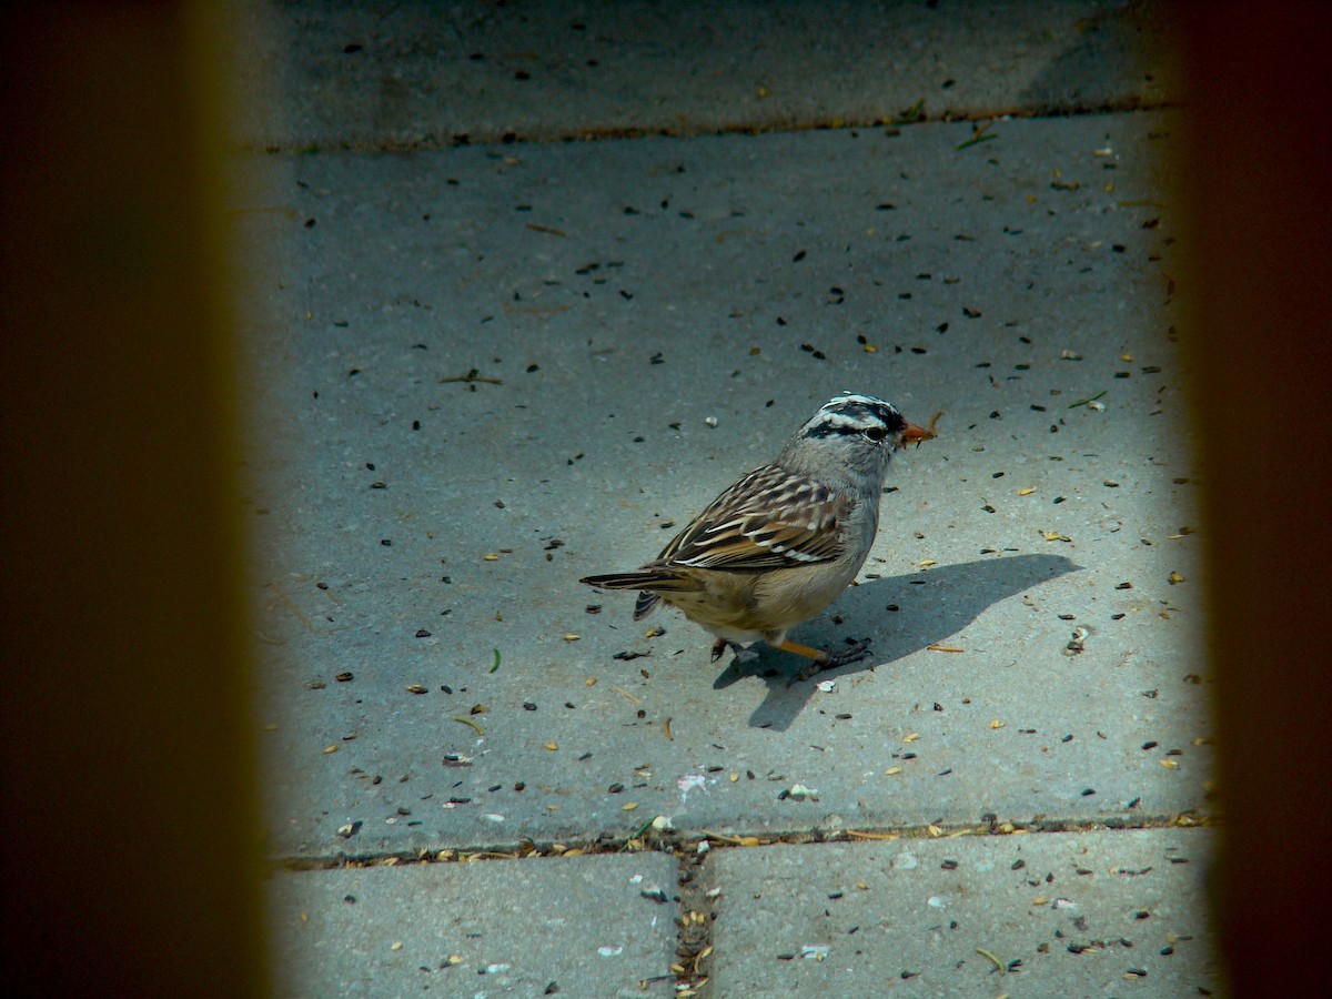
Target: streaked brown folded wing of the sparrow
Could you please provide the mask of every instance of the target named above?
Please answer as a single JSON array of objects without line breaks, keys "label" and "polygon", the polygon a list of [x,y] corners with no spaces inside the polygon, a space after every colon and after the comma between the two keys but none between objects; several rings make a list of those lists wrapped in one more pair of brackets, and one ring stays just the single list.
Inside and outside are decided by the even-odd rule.
[{"label": "streaked brown folded wing of the sparrow", "polygon": [[779,569],[836,558],[847,500],[827,486],[766,465],[701,513],[651,566]]}]

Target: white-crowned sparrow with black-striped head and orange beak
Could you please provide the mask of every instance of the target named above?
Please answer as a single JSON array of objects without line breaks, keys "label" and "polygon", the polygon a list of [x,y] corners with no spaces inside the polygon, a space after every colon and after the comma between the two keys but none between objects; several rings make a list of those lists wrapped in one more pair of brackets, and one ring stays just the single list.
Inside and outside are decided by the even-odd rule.
[{"label": "white-crowned sparrow with black-striped head and orange beak", "polygon": [[775,461],[742,476],[651,562],[581,582],[638,590],[634,621],[658,601],[678,607],[717,635],[714,661],[726,646],[738,651],[759,638],[813,659],[802,678],[862,659],[864,642],[832,654],[786,633],[855,578],[874,545],[892,452],[931,437],[883,400],[831,398]]}]

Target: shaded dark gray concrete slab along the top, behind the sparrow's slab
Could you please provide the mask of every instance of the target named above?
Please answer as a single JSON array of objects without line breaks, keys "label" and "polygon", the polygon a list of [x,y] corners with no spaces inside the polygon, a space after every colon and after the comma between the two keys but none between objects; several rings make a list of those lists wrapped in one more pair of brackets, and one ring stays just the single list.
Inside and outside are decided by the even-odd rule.
[{"label": "shaded dark gray concrete slab along the top, behind the sparrow's slab", "polygon": [[257,148],[698,135],[1177,100],[1162,5],[281,3],[242,49]]}]

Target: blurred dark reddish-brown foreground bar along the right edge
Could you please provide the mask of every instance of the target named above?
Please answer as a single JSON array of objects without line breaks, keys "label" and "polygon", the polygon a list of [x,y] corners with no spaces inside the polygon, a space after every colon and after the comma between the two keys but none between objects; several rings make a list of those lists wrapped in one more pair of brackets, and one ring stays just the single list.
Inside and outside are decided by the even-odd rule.
[{"label": "blurred dark reddish-brown foreground bar along the right edge", "polygon": [[1175,12],[1219,681],[1219,939],[1235,995],[1313,995],[1332,924],[1332,9]]}]

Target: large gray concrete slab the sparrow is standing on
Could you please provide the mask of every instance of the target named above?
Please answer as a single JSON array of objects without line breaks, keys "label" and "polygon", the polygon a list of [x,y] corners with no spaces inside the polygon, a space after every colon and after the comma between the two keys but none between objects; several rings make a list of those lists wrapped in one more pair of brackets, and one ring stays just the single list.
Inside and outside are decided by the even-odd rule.
[{"label": "large gray concrete slab the sparrow is standing on", "polygon": [[[1177,124],[260,164],[270,851],[1205,809]],[[868,663],[743,675],[577,583],[843,389],[944,413],[860,585],[795,635],[868,635]]]}]

